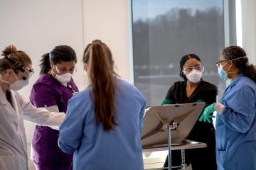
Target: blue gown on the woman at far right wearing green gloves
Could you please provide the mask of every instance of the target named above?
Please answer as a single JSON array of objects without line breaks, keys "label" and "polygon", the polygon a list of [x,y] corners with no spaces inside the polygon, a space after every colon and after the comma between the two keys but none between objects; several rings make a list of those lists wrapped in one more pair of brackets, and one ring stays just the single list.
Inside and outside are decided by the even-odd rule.
[{"label": "blue gown on the woman at far right wearing green gloves", "polygon": [[240,74],[225,90],[216,118],[219,170],[256,169],[256,84]]}]

